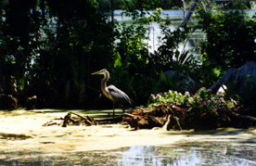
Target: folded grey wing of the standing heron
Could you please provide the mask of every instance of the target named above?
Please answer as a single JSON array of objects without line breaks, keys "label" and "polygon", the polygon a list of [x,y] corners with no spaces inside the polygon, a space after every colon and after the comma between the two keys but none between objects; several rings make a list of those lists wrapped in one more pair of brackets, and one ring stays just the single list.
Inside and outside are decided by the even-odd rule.
[{"label": "folded grey wing of the standing heron", "polygon": [[120,104],[129,105],[133,107],[134,105],[133,100],[129,96],[127,96],[124,92],[122,92],[122,90],[120,90],[114,85],[109,85],[108,90],[109,90],[109,95],[112,97],[113,100],[115,100]]}]

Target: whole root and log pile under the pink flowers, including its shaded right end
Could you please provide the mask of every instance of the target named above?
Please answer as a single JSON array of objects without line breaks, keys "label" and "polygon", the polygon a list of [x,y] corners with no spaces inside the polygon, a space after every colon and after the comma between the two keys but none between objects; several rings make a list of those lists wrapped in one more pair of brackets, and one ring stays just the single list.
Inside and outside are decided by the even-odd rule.
[{"label": "whole root and log pile under the pink flowers, including its shaded right end", "polygon": [[255,127],[256,118],[250,115],[250,110],[237,107],[218,108],[216,111],[193,116],[191,108],[169,104],[160,104],[152,108],[134,109],[134,112],[124,113],[122,121],[127,121],[131,128],[152,129],[160,127],[163,130],[214,130],[220,127],[250,128]]}]

